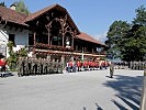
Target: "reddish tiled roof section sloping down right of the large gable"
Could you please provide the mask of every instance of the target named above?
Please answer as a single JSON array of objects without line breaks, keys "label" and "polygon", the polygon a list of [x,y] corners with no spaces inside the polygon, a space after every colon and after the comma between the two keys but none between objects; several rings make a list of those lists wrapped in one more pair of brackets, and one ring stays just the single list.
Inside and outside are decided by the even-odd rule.
[{"label": "reddish tiled roof section sloping down right of the large gable", "polygon": [[78,38],[91,42],[98,45],[106,46],[105,44],[101,43],[100,41],[93,38],[92,36],[88,35],[87,33],[81,32],[79,35],[77,35]]}]

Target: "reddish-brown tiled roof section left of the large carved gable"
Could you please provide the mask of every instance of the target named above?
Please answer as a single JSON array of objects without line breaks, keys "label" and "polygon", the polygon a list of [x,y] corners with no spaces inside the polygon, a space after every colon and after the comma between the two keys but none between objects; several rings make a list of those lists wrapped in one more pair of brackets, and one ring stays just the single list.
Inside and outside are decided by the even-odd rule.
[{"label": "reddish-brown tiled roof section left of the large carved gable", "polygon": [[27,15],[0,6],[0,16],[2,20],[7,20],[8,22],[25,25],[23,20]]}]

